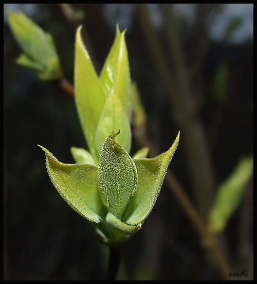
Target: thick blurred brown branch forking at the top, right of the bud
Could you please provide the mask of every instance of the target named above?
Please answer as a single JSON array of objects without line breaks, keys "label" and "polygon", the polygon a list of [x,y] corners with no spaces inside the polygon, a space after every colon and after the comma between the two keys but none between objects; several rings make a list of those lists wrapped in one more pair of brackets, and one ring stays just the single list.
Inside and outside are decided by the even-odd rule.
[{"label": "thick blurred brown branch forking at the top, right of the bud", "polygon": [[[166,4],[163,4],[166,5]],[[171,6],[164,6],[164,19],[168,21],[168,39],[170,52],[175,65],[176,77],[171,73],[170,66],[159,43],[150,19],[148,8],[145,4],[136,4],[142,30],[158,73],[164,87],[170,94],[175,118],[181,128],[188,155],[188,163],[192,184],[201,214],[206,218],[212,204],[214,191],[213,171],[206,135],[203,125],[196,114],[196,104],[190,88],[188,70],[183,57],[179,39],[177,37]]]}]

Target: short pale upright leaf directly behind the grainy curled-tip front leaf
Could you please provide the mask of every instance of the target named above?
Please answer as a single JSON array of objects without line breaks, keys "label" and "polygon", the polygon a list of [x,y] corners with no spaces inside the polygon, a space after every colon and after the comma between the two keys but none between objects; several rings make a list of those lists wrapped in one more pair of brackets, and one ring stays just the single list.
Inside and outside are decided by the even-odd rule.
[{"label": "short pale upright leaf directly behind the grainy curled-tip front leaf", "polygon": [[118,96],[112,90],[104,105],[96,132],[96,149],[99,156],[106,137],[118,129],[120,129],[120,135],[117,136],[117,142],[129,153],[131,148],[130,123]]}]

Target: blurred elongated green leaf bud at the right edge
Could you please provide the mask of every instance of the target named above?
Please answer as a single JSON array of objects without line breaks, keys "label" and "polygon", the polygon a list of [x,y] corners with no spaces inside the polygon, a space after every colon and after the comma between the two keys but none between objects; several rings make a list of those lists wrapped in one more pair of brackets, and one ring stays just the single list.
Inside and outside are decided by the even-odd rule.
[{"label": "blurred elongated green leaf bud at the right edge", "polygon": [[209,230],[221,233],[236,208],[240,205],[245,188],[253,175],[253,157],[240,160],[229,178],[219,186],[210,211]]}]

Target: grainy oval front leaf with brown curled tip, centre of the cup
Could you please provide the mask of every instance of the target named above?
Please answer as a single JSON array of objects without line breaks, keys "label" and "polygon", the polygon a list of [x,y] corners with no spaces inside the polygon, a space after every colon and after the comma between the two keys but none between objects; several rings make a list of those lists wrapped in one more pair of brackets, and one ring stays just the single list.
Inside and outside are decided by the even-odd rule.
[{"label": "grainy oval front leaf with brown curled tip, centre of the cup", "polygon": [[137,170],[133,159],[109,135],[103,144],[99,160],[99,190],[108,211],[120,219],[127,203],[137,188]]}]

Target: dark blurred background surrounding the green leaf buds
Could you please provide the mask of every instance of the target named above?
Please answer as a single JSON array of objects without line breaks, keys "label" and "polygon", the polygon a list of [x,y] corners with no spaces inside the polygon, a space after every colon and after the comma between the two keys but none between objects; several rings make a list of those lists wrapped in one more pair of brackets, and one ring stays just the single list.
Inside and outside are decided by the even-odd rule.
[{"label": "dark blurred background surrounding the green leaf buds", "polygon": [[[86,148],[74,99],[15,63],[21,50],[7,6],[52,34],[71,83],[80,24],[98,74],[116,24],[127,28],[148,137],[159,154],[181,131],[170,168],[205,218],[217,186],[253,153],[253,4],[4,4],[4,278],[103,280],[107,247],[60,198],[36,146],[74,163],[70,147]],[[134,139],[132,154],[138,149]],[[223,234],[231,272],[251,274],[252,189],[250,182]],[[222,280],[213,262],[164,182],[143,229],[124,246],[118,279]]]}]

